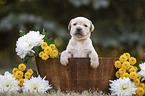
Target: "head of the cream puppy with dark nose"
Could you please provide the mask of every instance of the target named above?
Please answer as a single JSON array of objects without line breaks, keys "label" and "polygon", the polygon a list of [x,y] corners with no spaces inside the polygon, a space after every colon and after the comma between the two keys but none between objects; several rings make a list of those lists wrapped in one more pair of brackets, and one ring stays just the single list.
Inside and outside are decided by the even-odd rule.
[{"label": "head of the cream puppy with dark nose", "polygon": [[85,17],[76,17],[72,19],[68,25],[68,30],[72,37],[77,40],[83,40],[90,37],[94,30],[94,25]]}]

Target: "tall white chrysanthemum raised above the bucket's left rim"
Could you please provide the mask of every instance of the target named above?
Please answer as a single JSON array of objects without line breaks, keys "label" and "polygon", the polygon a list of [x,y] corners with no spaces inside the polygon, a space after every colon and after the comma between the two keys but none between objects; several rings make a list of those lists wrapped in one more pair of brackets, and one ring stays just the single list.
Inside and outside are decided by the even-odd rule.
[{"label": "tall white chrysanthemum raised above the bucket's left rim", "polygon": [[26,35],[20,37],[16,42],[16,52],[21,59],[25,58],[29,52],[33,52],[34,46],[40,46],[43,43],[45,35],[39,31],[29,31]]}]

